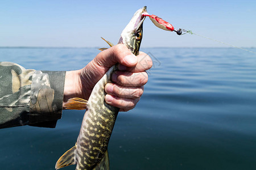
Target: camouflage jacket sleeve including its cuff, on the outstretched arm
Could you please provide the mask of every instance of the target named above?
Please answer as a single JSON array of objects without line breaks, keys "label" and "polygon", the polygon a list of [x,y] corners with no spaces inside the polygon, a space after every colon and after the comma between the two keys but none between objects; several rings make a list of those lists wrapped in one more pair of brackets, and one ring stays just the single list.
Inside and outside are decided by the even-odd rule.
[{"label": "camouflage jacket sleeve including its cuff, on the outstretched arm", "polygon": [[0,62],[0,128],[55,128],[61,118],[65,71],[24,69]]}]

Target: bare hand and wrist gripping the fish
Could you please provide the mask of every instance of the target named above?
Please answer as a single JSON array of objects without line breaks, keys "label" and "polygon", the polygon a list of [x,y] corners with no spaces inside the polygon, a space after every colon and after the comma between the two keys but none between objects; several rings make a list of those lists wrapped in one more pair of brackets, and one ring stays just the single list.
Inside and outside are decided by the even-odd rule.
[{"label": "bare hand and wrist gripping the fish", "polygon": [[99,53],[81,70],[67,71],[63,104],[72,97],[88,100],[98,80],[116,63],[118,71],[112,75],[113,83],[105,86],[105,101],[120,111],[133,109],[143,94],[143,86],[148,80],[146,70],[152,67],[152,60],[143,52],[134,56],[123,44]]}]

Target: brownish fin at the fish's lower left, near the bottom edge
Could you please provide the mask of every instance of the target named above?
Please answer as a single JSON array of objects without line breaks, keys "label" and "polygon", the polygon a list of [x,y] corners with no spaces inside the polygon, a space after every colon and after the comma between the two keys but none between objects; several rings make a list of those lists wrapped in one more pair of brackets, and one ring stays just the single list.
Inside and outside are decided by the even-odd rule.
[{"label": "brownish fin at the fish's lower left, near the bottom edge", "polygon": [[57,163],[55,165],[55,169],[60,169],[63,167],[67,167],[68,165],[76,164],[75,150],[76,146],[73,146],[70,150],[60,156],[59,160],[57,160]]}]

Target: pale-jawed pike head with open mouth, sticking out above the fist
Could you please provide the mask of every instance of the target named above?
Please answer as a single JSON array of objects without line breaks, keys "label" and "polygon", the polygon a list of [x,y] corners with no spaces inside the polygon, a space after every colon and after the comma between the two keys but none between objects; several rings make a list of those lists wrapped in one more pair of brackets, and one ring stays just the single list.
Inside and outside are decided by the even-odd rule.
[{"label": "pale-jawed pike head with open mouth, sticking out above the fist", "polygon": [[146,6],[134,13],[133,18],[123,29],[118,41],[118,44],[125,44],[135,56],[139,54],[139,47],[142,41],[143,21],[146,18],[146,16],[142,15],[143,12],[147,12]]}]

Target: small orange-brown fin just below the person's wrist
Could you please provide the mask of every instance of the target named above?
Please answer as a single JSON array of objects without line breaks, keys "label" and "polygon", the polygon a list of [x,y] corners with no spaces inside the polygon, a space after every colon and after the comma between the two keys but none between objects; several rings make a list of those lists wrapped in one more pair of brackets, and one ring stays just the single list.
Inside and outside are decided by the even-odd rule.
[{"label": "small orange-brown fin just below the person's wrist", "polygon": [[76,110],[84,110],[86,109],[87,100],[75,97],[72,99],[69,99],[66,104],[64,104],[64,107],[66,109],[76,109]]}]

